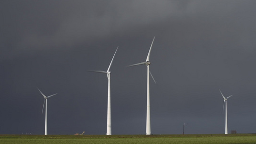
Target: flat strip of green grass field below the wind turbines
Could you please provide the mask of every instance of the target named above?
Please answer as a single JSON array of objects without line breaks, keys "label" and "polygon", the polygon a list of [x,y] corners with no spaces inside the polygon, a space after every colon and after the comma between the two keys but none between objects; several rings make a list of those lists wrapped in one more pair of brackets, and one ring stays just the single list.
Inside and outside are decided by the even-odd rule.
[{"label": "flat strip of green grass field below the wind turbines", "polygon": [[0,135],[0,144],[256,144],[256,134]]}]

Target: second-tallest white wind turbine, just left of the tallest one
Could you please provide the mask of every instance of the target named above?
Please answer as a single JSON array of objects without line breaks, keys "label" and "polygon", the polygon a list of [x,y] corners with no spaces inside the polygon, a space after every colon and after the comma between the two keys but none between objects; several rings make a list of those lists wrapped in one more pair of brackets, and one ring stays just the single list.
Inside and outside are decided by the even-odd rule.
[{"label": "second-tallest white wind turbine, just left of the tallest one", "polygon": [[[116,51],[117,51],[118,47],[116,48]],[[107,70],[107,72],[105,71],[89,71],[89,72],[100,72],[100,73],[107,73],[107,77],[109,79],[109,86],[108,86],[108,112],[107,112],[107,135],[111,135],[111,101],[110,101],[110,67],[112,65],[112,62],[114,60],[114,57],[116,55],[116,52],[110,62],[110,66]]]}]

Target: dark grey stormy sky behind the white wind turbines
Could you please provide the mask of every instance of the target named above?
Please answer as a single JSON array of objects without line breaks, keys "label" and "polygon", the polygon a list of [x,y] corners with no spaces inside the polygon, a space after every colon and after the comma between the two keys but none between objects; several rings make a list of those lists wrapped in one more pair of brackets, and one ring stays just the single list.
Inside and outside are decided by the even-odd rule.
[{"label": "dark grey stormy sky behind the white wind turbines", "polygon": [[1,0],[0,134],[256,132],[255,0]]}]

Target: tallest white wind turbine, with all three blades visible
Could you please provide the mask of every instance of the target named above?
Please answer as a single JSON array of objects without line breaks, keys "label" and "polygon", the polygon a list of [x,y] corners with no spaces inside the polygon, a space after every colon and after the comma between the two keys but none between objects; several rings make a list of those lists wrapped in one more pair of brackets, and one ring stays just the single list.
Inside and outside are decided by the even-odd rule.
[{"label": "tallest white wind turbine, with all three blades visible", "polygon": [[[151,134],[151,123],[150,123],[150,96],[149,96],[149,74],[151,75],[151,77],[153,78],[151,72],[149,71],[149,56],[150,56],[150,52],[151,52],[151,48],[153,45],[153,42],[155,40],[155,37],[153,38],[152,44],[149,48],[149,52],[147,54],[146,57],[146,61],[145,62],[141,62],[141,63],[136,63],[136,64],[132,64],[126,67],[131,67],[131,66],[136,66],[136,65],[143,65],[145,64],[147,67],[147,93],[146,93],[146,135],[150,135]],[[156,83],[155,79],[153,78],[154,82]]]}]

